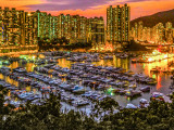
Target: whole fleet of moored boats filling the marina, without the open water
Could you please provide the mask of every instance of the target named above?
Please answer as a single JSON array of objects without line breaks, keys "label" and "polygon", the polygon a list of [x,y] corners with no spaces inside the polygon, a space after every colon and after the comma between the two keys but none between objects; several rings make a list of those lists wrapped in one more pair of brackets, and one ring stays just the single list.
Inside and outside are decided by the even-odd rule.
[{"label": "whole fleet of moored boats filling the marina, without the open water", "polygon": [[[73,106],[91,105],[97,101],[102,101],[108,95],[105,91],[111,89],[112,92],[129,98],[141,95],[142,92],[149,92],[157,81],[153,78],[142,74],[134,74],[130,70],[121,67],[96,66],[87,63],[74,63],[70,68],[57,65],[58,58],[83,57],[87,60],[97,58],[98,54],[76,54],[51,52],[47,53],[41,60],[34,63],[37,67],[34,72],[28,73],[23,67],[14,69],[1,67],[0,73],[11,79],[25,86],[38,90],[35,92],[24,92],[17,87],[7,87],[15,93],[20,101],[32,101],[40,103],[40,99],[49,98],[49,93],[61,94],[61,101]],[[92,56],[91,56],[92,55]],[[87,57],[85,57],[87,56]],[[99,56],[100,58],[112,58],[110,55]],[[92,61],[94,62],[94,61]],[[139,87],[139,84],[141,87]],[[13,93],[13,92],[12,92]],[[146,105],[145,105],[146,106]]]}]

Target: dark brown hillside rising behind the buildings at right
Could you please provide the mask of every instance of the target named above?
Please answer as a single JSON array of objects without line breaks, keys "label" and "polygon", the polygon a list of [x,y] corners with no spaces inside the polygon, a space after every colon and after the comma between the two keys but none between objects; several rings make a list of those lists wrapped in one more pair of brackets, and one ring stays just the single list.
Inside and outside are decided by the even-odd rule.
[{"label": "dark brown hillside rising behind the buildings at right", "polygon": [[163,23],[165,26],[166,22],[172,22],[174,27],[174,9],[169,11],[159,12],[149,16],[141,16],[130,22],[130,27],[135,26],[135,23],[142,21],[144,26],[153,27],[158,23]]}]

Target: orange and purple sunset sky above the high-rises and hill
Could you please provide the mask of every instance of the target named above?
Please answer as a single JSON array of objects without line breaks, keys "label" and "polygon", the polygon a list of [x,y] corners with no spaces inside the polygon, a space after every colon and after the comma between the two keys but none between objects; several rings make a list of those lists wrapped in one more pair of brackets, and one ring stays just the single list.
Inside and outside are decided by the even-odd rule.
[{"label": "orange and purple sunset sky above the high-rises and hill", "polygon": [[[61,13],[76,15],[79,14],[86,17],[103,16],[107,22],[107,8],[109,5],[116,6],[117,4],[127,3],[132,8],[130,20],[139,16],[151,15],[160,11],[172,10],[174,6],[173,0],[0,0],[1,6],[16,8],[25,11],[47,11],[52,15]],[[156,4],[156,8],[154,8]]]}]

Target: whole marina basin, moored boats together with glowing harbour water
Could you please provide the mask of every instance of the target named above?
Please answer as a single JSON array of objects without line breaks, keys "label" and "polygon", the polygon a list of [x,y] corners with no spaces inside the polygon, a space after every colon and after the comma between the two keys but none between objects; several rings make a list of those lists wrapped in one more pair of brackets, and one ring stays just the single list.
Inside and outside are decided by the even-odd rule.
[{"label": "whole marina basin, moored boats together with glowing harbour water", "polygon": [[[46,52],[20,55],[15,58],[1,57],[0,83],[10,91],[7,102],[16,107],[30,101],[41,104],[49,93],[61,94],[65,106],[86,107],[107,96],[120,106],[138,106],[141,99],[150,102],[153,92],[163,96],[173,92],[169,73],[152,73],[153,67],[166,68],[173,60],[153,63],[132,63],[136,55]],[[121,57],[120,57],[121,56]],[[170,102],[169,98],[166,102]],[[128,105],[128,106],[127,106]]]}]

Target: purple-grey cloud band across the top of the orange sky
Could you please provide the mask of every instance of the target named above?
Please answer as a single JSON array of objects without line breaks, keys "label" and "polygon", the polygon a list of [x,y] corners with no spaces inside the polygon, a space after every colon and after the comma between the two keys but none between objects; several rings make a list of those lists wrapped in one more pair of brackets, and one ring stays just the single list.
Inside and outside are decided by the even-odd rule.
[{"label": "purple-grey cloud band across the top of the orange sky", "polygon": [[45,0],[39,4],[25,5],[32,11],[63,11],[63,10],[87,10],[109,4],[124,4],[132,2],[161,1],[161,0]]}]

